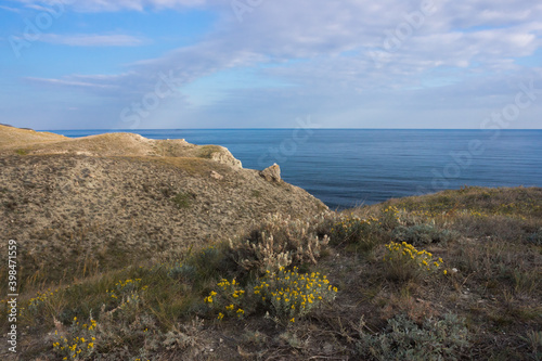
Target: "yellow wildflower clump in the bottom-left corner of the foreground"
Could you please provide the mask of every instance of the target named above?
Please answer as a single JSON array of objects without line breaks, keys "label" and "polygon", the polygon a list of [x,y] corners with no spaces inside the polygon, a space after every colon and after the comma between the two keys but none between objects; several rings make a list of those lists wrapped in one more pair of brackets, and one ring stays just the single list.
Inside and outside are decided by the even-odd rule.
[{"label": "yellow wildflower clump in the bottom-left corner of the foreground", "polygon": [[64,335],[59,335],[59,331],[55,331],[54,335],[56,339],[53,343],[53,350],[56,354],[63,357],[63,360],[83,359],[91,356],[95,349],[96,326],[98,323],[92,318],[90,318],[88,323],[79,325],[75,317],[72,322],[70,332],[79,334],[79,336],[73,335],[68,338]]}]

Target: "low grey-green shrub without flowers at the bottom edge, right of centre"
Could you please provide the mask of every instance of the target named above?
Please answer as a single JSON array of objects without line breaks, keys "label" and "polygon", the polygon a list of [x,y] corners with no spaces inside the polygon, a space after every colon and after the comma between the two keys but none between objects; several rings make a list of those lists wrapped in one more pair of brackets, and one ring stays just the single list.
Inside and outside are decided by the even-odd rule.
[{"label": "low grey-green shrub without flowers at the bottom edge, right of centre", "polygon": [[423,326],[398,315],[388,320],[386,332],[362,334],[358,351],[376,360],[456,360],[460,351],[469,346],[468,331],[455,314],[440,321],[426,319]]}]

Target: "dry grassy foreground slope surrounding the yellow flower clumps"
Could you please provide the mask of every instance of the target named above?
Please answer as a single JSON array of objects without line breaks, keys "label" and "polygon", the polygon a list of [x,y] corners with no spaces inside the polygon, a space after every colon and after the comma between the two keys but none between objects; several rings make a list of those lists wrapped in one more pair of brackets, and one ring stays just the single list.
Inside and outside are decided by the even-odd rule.
[{"label": "dry grassy foreground slope surrounding the yellow flower clumps", "polygon": [[[22,295],[21,326],[28,326],[31,336],[23,337],[22,354],[59,358],[48,333],[87,335],[74,318],[86,323],[93,318],[98,326],[92,352],[85,356],[89,360],[538,360],[542,245],[532,234],[542,229],[541,195],[540,189],[472,188],[343,215],[275,216],[231,244],[217,240],[160,262],[140,257],[139,263],[115,271],[89,263],[85,278],[53,285],[52,295],[37,282]],[[420,237],[417,250],[442,258],[443,266],[424,276],[390,276],[385,245],[416,225],[424,227],[408,233],[411,242]],[[426,231],[455,236],[425,237]],[[328,244],[322,242],[325,235]],[[276,263],[283,254],[287,265]],[[242,317],[237,311],[220,317],[234,294],[260,291],[269,280],[266,269],[272,273],[275,266],[326,275],[338,288],[336,298],[294,321],[273,308],[279,304],[249,297],[235,304],[243,307]],[[282,281],[274,282],[295,281],[288,276],[279,271]],[[222,279],[235,279],[235,292],[215,296],[217,284],[225,284]],[[312,279],[309,288],[318,288],[319,276]],[[127,280],[140,281],[128,287]],[[49,295],[36,297],[38,291]],[[219,308],[210,307],[209,296],[221,300]]]}]

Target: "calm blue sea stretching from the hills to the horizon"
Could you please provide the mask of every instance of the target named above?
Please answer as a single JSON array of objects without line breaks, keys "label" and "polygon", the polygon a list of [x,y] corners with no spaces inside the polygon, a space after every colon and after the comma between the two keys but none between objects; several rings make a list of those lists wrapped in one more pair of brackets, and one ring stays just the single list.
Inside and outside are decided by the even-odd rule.
[{"label": "calm blue sea stretching from the hills to the horizon", "polygon": [[[542,186],[542,130],[115,130],[228,147],[244,168],[281,166],[285,181],[332,209],[462,185]],[[53,130],[85,137],[111,130]]]}]

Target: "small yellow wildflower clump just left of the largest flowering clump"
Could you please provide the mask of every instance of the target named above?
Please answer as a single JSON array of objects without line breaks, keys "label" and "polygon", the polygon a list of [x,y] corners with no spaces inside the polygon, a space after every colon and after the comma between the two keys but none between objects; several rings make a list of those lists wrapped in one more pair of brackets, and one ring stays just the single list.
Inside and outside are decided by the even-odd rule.
[{"label": "small yellow wildflower clump just left of the largest flowering clump", "polygon": [[220,310],[217,319],[222,320],[225,315],[236,315],[242,318],[245,314],[243,302],[245,291],[238,282],[233,279],[231,282],[222,279],[217,283],[218,293],[211,291],[204,301],[212,309]]}]

